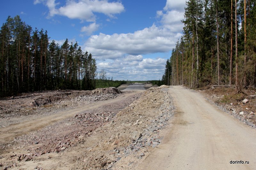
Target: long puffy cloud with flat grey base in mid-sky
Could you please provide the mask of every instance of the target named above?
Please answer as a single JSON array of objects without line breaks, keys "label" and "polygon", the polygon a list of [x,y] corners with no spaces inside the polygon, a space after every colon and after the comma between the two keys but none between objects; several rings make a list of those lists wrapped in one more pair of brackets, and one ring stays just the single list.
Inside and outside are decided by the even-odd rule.
[{"label": "long puffy cloud with flat grey base in mid-sky", "polygon": [[116,53],[121,56],[161,53],[170,51],[179,37],[180,33],[172,33],[167,28],[153,24],[134,33],[92,35],[86,42],[85,49],[90,49],[98,59],[108,58],[111,54],[111,59],[120,57]]}]

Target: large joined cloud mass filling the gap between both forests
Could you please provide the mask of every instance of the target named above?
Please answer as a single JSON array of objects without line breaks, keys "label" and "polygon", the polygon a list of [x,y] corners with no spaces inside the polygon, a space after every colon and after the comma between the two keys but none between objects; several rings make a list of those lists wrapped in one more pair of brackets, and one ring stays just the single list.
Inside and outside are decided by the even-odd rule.
[{"label": "large joined cloud mass filling the gap between both forests", "polygon": [[182,35],[185,0],[167,0],[161,11],[156,11],[160,25],[133,33],[92,35],[84,49],[93,53],[98,69],[104,68],[114,79],[158,80],[164,73],[166,59],[143,58],[144,54],[166,53]]}]

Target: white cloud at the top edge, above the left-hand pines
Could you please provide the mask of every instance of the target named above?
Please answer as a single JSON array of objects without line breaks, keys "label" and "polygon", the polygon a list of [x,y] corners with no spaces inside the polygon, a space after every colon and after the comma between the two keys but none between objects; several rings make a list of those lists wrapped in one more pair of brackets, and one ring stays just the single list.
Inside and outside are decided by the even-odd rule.
[{"label": "white cloud at the top edge, above the left-hand pines", "polygon": [[110,18],[115,14],[124,11],[121,2],[108,2],[108,0],[69,0],[64,6],[56,8],[58,3],[55,0],[35,0],[34,4],[43,3],[49,9],[48,17],[54,15],[66,16],[70,19],[81,19],[88,22],[95,22],[95,12],[103,13]]}]

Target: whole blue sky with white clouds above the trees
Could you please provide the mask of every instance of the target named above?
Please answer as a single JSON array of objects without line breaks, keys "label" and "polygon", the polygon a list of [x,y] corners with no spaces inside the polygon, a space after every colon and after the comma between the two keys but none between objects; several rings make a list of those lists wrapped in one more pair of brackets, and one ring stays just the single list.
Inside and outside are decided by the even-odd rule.
[{"label": "whole blue sky with white clouds above the trees", "polygon": [[185,0],[2,0],[0,22],[20,15],[50,42],[77,42],[114,80],[161,80],[182,36]]}]

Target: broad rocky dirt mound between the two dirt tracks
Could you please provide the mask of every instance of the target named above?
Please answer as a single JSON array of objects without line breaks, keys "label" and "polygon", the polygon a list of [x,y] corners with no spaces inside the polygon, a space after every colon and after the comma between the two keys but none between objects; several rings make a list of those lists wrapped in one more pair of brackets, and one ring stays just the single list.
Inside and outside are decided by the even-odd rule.
[{"label": "broad rocky dirt mound between the two dirt tracks", "polygon": [[[2,163],[20,169],[134,169],[163,140],[160,131],[174,114],[167,91],[152,87],[16,138]],[[20,160],[22,155],[33,161]]]}]

